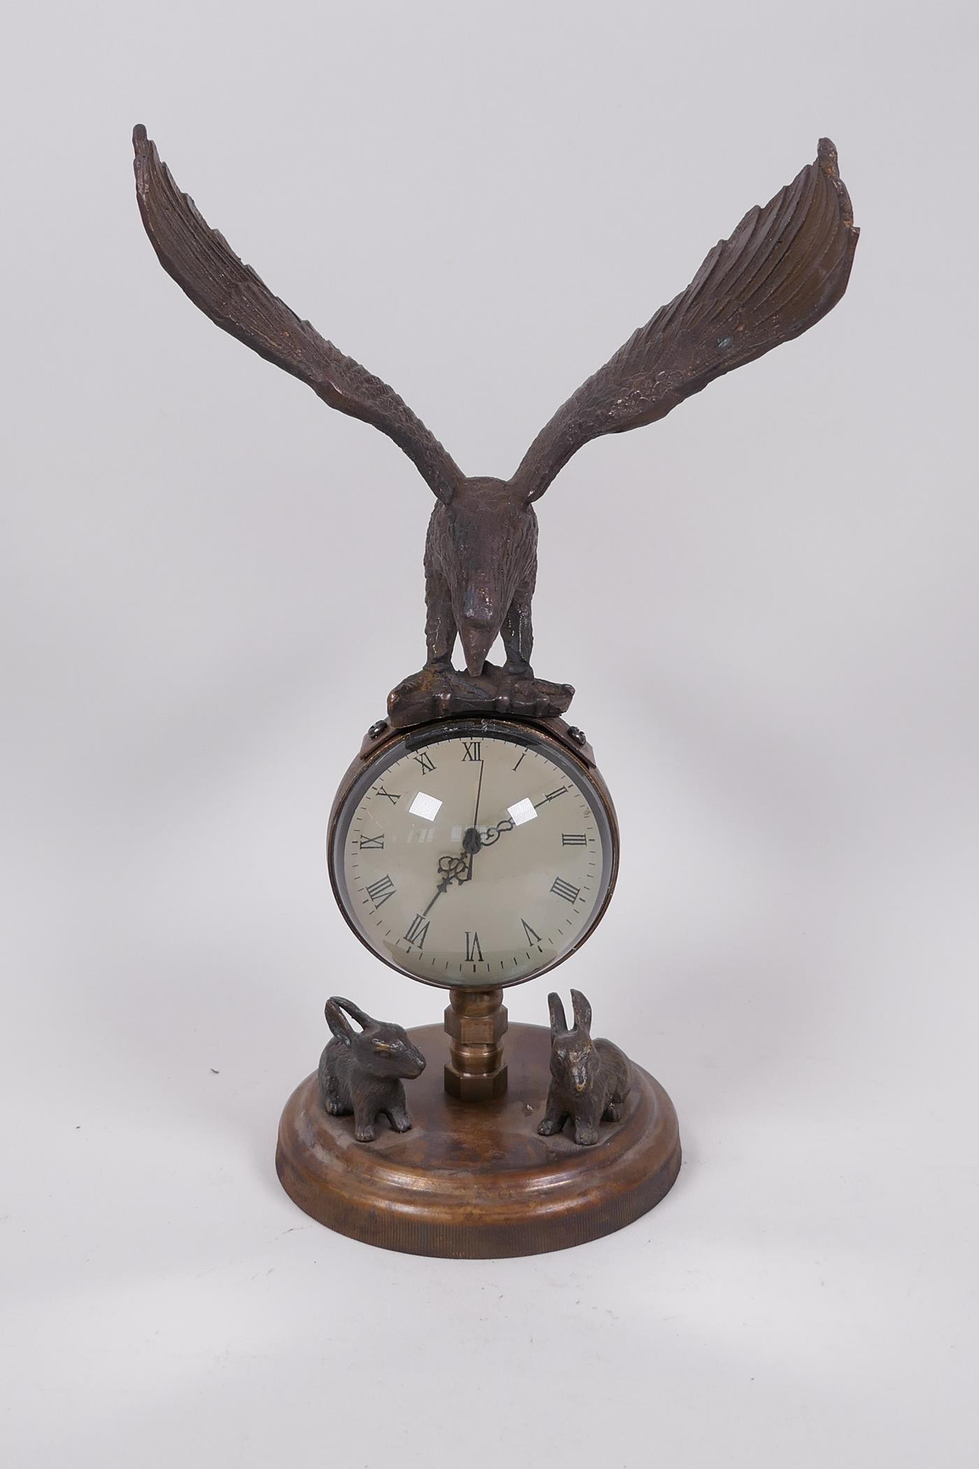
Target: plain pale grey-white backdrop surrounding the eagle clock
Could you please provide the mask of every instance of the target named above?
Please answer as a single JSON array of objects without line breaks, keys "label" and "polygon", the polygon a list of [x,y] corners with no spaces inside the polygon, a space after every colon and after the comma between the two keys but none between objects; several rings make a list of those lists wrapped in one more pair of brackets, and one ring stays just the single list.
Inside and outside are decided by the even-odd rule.
[{"label": "plain pale grey-white backdrop surrounding the eagle clock", "polygon": [[[12,1465],[975,1465],[976,50],[941,0],[9,18]],[[323,862],[423,658],[430,495],[160,270],[137,120],[487,474],[838,145],[840,307],[539,507],[534,664],[578,689],[624,852],[555,978],[685,1147],[618,1235],[420,1260],[279,1190],[324,996],[442,1008]]]}]

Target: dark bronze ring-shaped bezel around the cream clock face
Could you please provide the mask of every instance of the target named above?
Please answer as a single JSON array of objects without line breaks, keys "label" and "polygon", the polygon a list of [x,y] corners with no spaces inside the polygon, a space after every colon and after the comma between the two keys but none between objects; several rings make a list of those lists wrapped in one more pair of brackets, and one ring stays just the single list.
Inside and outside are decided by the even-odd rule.
[{"label": "dark bronze ring-shaped bezel around the cream clock face", "polygon": [[[565,949],[565,952],[561,953],[550,964],[542,965],[539,970],[534,970],[533,974],[524,974],[512,980],[499,980],[492,986],[458,984],[458,983],[451,984],[446,983],[445,980],[426,978],[420,974],[412,974],[410,970],[405,970],[399,964],[395,964],[392,959],[387,959],[383,953],[379,953],[377,949],[370,943],[367,934],[358,928],[357,923],[354,921],[348,909],[348,905],[343,899],[345,884],[343,886],[341,884],[341,876],[338,874],[338,859],[336,859],[339,849],[338,833],[342,826],[342,818],[348,811],[348,804],[351,802],[355,793],[357,798],[360,799],[360,789],[370,784],[370,779],[365,780],[364,777],[368,777],[370,771],[376,765],[383,762],[385,755],[392,749],[392,746],[412,745],[415,742],[418,745],[423,745],[429,743],[433,739],[433,736],[434,739],[442,740],[442,739],[461,737],[464,734],[478,736],[480,733],[486,736],[501,734],[508,739],[515,739],[515,743],[521,743],[521,736],[523,736],[523,742],[530,740],[539,746],[543,746],[545,749],[550,749],[550,752],[556,757],[556,764],[562,762],[569,764],[572,767],[575,779],[587,784],[597,798],[599,808],[605,817],[605,821],[608,823],[609,856],[611,856],[609,880],[605,893],[602,896],[602,900],[592,914],[587,928],[574,940],[574,943],[571,943],[568,949]],[[609,795],[609,789],[605,784],[605,780],[597,765],[594,764],[592,746],[584,742],[584,737],[580,736],[580,732],[575,730],[575,736],[578,737],[572,737],[571,730],[564,720],[546,720],[546,721],[527,720],[527,718],[512,718],[505,714],[495,714],[487,718],[483,718],[481,715],[477,714],[455,715],[452,718],[445,718],[445,720],[430,720],[426,721],[424,724],[415,724],[408,729],[392,729],[386,721],[371,727],[367,737],[364,739],[360,752],[351,761],[349,767],[343,773],[343,779],[341,780],[339,789],[333,799],[333,806],[330,809],[330,818],[326,831],[326,864],[330,876],[330,887],[333,892],[333,898],[336,900],[336,906],[343,915],[343,921],[346,923],[348,928],[357,936],[357,939],[363,943],[363,946],[367,949],[368,953],[371,953],[380,964],[387,965],[389,970],[393,970],[395,974],[402,974],[405,978],[415,980],[418,984],[429,984],[432,989],[440,989],[440,990],[462,989],[476,992],[480,987],[512,989],[515,984],[527,984],[530,980],[540,978],[542,974],[549,974],[552,970],[556,970],[559,964],[564,964],[565,959],[569,959],[572,953],[578,952],[581,945],[586,943],[587,939],[590,939],[594,930],[597,928],[599,923],[602,921],[602,918],[608,911],[609,902],[612,900],[612,893],[615,890],[615,883],[618,878],[618,867],[619,867],[619,827],[618,827],[618,818],[615,815],[615,806],[612,804],[612,796]],[[346,820],[346,826],[343,827],[343,836],[346,836],[346,830],[349,829],[349,821],[352,820],[352,815],[354,811],[351,809],[349,817]]]}]

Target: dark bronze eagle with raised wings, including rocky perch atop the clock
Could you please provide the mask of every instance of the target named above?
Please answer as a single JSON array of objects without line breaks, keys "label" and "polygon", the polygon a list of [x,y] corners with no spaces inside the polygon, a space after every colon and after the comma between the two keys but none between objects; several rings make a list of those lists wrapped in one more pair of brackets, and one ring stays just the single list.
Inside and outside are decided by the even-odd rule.
[{"label": "dark bronze eagle with raised wings, including rocky perch atop the clock", "polygon": [[[837,150],[820,138],[815,162],[750,209],[685,291],[558,408],[508,480],[470,477],[392,388],[238,259],[179,191],[144,126],[132,140],[139,213],[164,270],[217,326],[392,438],[436,497],[424,555],[427,661],[389,698],[396,724],[462,708],[537,718],[567,710],[571,686],[536,679],[530,665],[534,501],[583,444],[663,419],[715,378],[815,326],[847,288],[859,235]],[[505,668],[486,661],[498,635]],[[456,636],[464,674],[452,668]]]}]

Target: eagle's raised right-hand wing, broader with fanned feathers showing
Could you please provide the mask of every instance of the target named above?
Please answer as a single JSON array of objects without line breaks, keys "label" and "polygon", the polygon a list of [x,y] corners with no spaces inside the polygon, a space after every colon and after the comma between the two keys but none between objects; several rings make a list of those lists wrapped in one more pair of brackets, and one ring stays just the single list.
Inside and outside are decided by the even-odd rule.
[{"label": "eagle's raised right-hand wing, broader with fanned feathers showing", "polygon": [[815,326],[847,289],[857,235],[837,150],[820,138],[815,163],[765,209],[749,210],[687,289],[558,408],[511,485],[539,499],[589,439],[655,423],[715,378]]}]

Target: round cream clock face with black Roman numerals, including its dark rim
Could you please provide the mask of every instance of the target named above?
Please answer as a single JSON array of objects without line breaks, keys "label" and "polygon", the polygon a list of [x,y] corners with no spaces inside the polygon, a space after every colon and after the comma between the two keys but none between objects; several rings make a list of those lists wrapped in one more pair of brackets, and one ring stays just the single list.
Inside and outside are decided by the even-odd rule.
[{"label": "round cream clock face with black Roman numerals, including its dark rim", "polygon": [[608,796],[533,726],[415,730],[342,799],[330,878],[357,936],[429,984],[505,986],[567,958],[616,868]]}]

